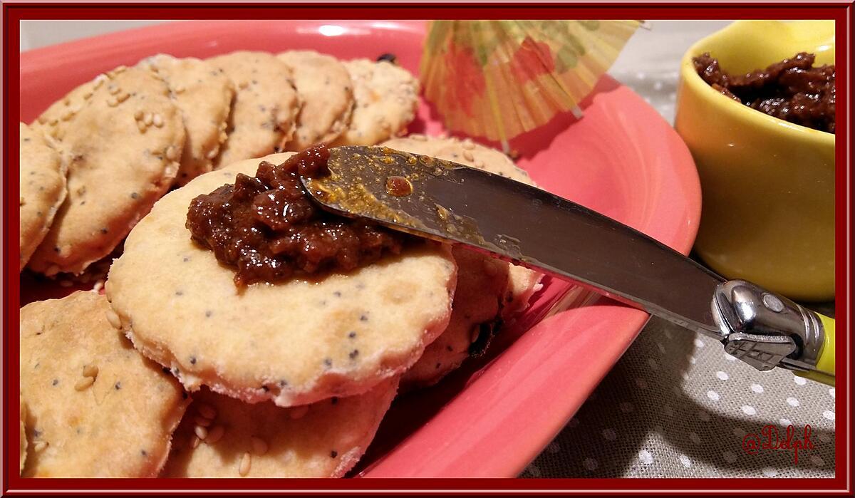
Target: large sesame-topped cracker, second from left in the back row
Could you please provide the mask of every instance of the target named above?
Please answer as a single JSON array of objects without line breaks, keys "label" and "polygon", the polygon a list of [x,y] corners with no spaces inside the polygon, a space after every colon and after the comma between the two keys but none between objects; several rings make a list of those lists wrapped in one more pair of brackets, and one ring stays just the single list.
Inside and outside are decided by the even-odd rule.
[{"label": "large sesame-topped cracker, second from left in the back row", "polygon": [[80,274],[113,251],[172,184],[185,139],[166,83],[142,68],[114,72],[69,123],[68,197],[29,263],[46,275]]}]

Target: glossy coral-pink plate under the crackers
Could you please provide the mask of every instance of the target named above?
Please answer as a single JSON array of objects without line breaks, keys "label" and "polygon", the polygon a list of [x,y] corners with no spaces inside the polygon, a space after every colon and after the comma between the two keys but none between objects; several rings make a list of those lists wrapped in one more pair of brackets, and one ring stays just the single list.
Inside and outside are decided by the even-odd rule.
[{"label": "glossy coral-pink plate under the crackers", "polygon": [[[206,57],[314,49],[343,59],[393,52],[416,72],[423,38],[422,21],[204,21],[103,35],[21,54],[21,120],[32,122],[99,72],[158,52]],[[516,139],[518,163],[541,187],[687,253],[700,218],[700,187],[681,139],[644,100],[608,77],[582,108],[579,122],[557,116]],[[437,134],[442,127],[422,104],[410,131]],[[32,299],[24,287],[22,303]],[[359,475],[515,477],[522,471],[646,323],[646,313],[606,299],[566,309],[586,300],[577,291],[568,295],[571,289],[545,282],[484,357],[434,388],[399,397]]]}]

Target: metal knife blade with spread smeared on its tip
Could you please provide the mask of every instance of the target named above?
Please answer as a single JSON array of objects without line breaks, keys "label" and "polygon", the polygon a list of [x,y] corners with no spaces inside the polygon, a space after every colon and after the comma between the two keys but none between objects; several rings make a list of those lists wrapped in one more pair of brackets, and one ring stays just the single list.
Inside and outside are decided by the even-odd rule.
[{"label": "metal knife blade with spread smeared on its tip", "polygon": [[386,147],[333,148],[327,166],[329,175],[303,179],[327,210],[490,252],[723,338],[712,311],[721,277],[584,206],[481,169]]}]

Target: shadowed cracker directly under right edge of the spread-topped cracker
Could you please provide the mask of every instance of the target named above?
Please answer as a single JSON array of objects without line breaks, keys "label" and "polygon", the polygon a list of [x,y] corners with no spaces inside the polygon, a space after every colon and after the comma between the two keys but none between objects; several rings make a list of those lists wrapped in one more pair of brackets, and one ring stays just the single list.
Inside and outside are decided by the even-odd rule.
[{"label": "shadowed cracker directly under right edge of the spread-topped cracker", "polygon": [[[508,264],[479,252],[455,246],[457,288],[448,327],[425,348],[422,358],[401,379],[404,388],[426,387],[439,382],[472,354],[472,347],[486,347],[502,309],[508,285]],[[477,343],[477,344],[476,344]]]}]

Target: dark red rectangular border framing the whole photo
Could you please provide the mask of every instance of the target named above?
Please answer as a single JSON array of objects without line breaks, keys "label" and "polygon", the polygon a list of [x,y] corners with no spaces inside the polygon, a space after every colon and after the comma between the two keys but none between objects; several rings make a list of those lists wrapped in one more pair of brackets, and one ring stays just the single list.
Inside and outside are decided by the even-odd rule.
[{"label": "dark red rectangular border framing the whole photo", "polygon": [[[127,494],[151,494],[173,491],[205,495],[243,493],[298,492],[311,490],[348,492],[351,494],[399,493],[433,489],[435,492],[479,493],[488,495],[549,493],[555,490],[587,493],[610,490],[628,493],[680,493],[717,495],[723,492],[757,492],[764,495],[847,494],[852,489],[852,394],[850,392],[852,341],[849,338],[852,306],[850,281],[851,242],[850,215],[847,205],[851,199],[852,179],[848,163],[851,146],[849,89],[852,78],[850,44],[852,5],[850,3],[658,3],[641,6],[638,3],[581,3],[557,5],[533,3],[523,7],[504,4],[425,4],[407,5],[367,4],[291,4],[275,6],[269,3],[199,6],[178,3],[3,3],[3,493],[21,495],[42,492],[62,494],[91,494],[120,491]],[[836,21],[836,65],[838,121],[836,159],[836,321],[838,365],[837,392],[842,394],[836,404],[836,475],[834,479],[22,479],[17,471],[17,453],[10,452],[18,441],[18,324],[20,282],[14,277],[17,246],[9,244],[18,234],[15,223],[18,195],[18,131],[14,126],[20,110],[19,78],[16,74],[20,60],[20,27],[22,19],[833,19]],[[851,493],[848,493],[851,494]]]}]

